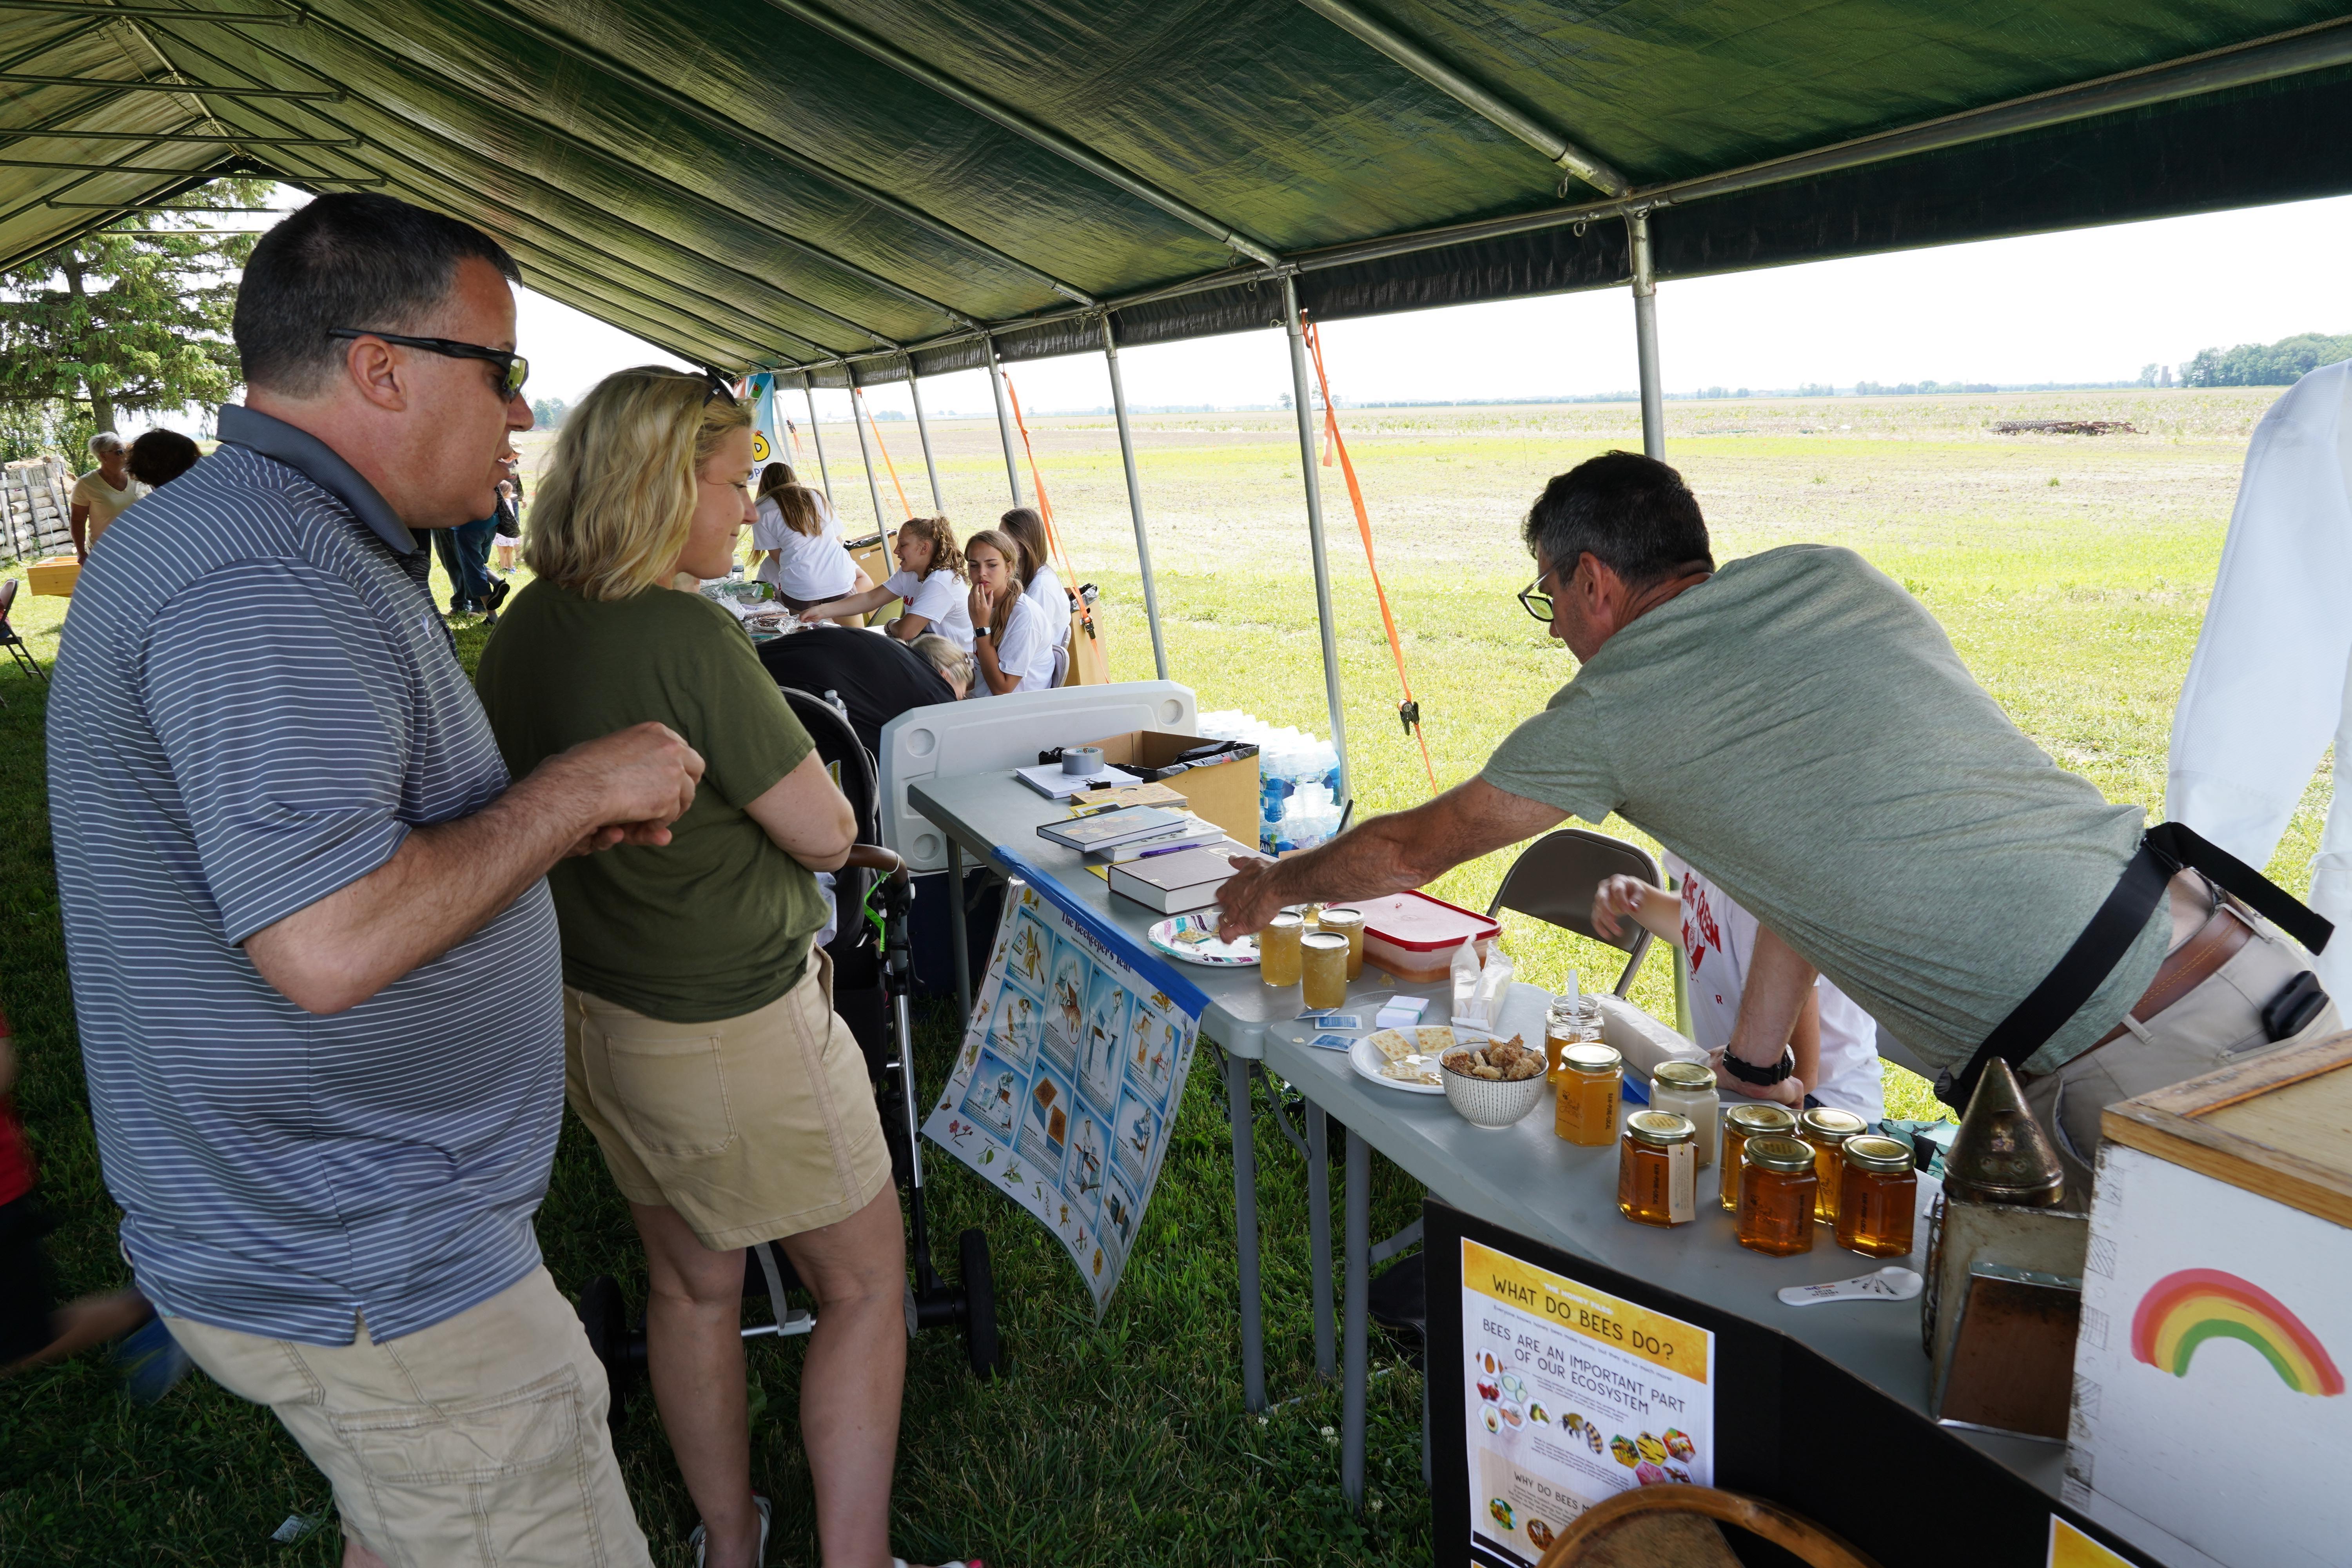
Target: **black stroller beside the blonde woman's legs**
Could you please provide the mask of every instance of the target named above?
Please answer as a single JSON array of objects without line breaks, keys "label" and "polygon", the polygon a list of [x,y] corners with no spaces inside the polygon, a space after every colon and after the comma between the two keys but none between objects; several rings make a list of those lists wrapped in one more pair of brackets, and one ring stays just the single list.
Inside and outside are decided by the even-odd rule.
[{"label": "black stroller beside the blonde woman's legs", "polygon": [[[915,1284],[906,1295],[906,1328],[960,1328],[964,1354],[976,1378],[997,1373],[997,1298],[988,1267],[988,1234],[978,1227],[955,1239],[957,1279],[950,1286],[931,1265],[931,1229],[922,1194],[922,1095],[915,1093],[915,1027],[908,999],[915,987],[915,954],[910,938],[910,910],[915,884],[906,863],[880,839],[880,783],[873,755],[858,741],[849,719],[818,696],[781,686],[793,715],[816,741],[823,757],[849,797],[858,818],[858,844],[849,851],[849,863],[835,872],[835,922],[833,943],[833,1004],[866,1051],[866,1070],[875,1084],[882,1110],[882,1135],[889,1143],[891,1175],[906,1192],[910,1220],[910,1255]],[[866,910],[880,917],[880,940]],[[790,1258],[776,1241],[762,1241],[743,1253],[743,1295],[769,1302],[769,1321],[743,1328],[743,1338],[786,1338],[809,1333],[816,1314],[793,1305],[790,1293],[800,1291],[800,1276]],[[597,1274],[581,1293],[581,1326],[588,1345],[604,1363],[612,1382],[612,1420],[621,1422],[621,1403],[628,1387],[644,1375],[644,1319],[630,1319],[621,1284],[612,1274]]]}]

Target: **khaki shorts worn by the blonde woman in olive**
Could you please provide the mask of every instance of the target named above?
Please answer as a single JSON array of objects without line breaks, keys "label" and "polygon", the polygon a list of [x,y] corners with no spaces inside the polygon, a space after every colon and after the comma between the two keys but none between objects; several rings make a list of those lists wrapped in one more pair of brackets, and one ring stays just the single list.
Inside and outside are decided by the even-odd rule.
[{"label": "khaki shorts worn by the blonde woman in olive", "polygon": [[630,1204],[710,1251],[837,1225],[889,1185],[866,1053],[833,1013],[833,959],[757,1013],[663,1023],[564,987],[564,1095]]}]

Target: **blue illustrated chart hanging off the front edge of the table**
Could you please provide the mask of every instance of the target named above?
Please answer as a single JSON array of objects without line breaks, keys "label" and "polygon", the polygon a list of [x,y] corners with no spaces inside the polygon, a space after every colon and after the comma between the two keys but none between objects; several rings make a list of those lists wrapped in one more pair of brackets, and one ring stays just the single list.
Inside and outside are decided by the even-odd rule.
[{"label": "blue illustrated chart hanging off the front edge of the table", "polygon": [[1014,889],[922,1131],[1061,1237],[1101,1314],[1152,1201],[1207,997],[1035,877]]}]

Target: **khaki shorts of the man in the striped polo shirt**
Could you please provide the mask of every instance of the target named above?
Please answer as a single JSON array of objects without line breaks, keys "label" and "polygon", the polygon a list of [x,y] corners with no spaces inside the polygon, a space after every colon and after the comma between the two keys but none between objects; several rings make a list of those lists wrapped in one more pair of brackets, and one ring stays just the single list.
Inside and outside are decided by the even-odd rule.
[{"label": "khaki shorts of the man in the striped polo shirt", "polygon": [[393,1568],[649,1568],[604,1429],[604,1368],[546,1269],[402,1335],[299,1345],[165,1319],[230,1394],[278,1413]]}]

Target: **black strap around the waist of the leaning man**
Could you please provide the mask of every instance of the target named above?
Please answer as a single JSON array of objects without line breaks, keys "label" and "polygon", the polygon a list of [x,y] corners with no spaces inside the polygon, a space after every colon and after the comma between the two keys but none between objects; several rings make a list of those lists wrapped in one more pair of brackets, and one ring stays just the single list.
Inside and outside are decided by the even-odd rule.
[{"label": "black strap around the waist of the leaning man", "polygon": [[2147,926],[2157,900],[2180,870],[2197,870],[2213,879],[2225,893],[2239,898],[2256,914],[2279,926],[2310,952],[2328,945],[2333,924],[2312,914],[2293,893],[2253,870],[2230,851],[2209,844],[2180,823],[2159,823],[2140,839],[2138,853],[2124,865],[2098,914],[2082,929],[2074,945],[2042,983],[2025,994],[2025,1001],[2009,1011],[2009,1018],[1992,1027],[1985,1044],[1976,1048],[1969,1065],[1955,1077],[1945,1067],[1936,1077],[1936,1098],[1952,1110],[1966,1110],[1976,1093],[1976,1079],[1985,1074],[1992,1058],[2002,1058],[2013,1070],[2072,1018],[2091,999],[2114,966],[2124,961],[2131,943]]}]

